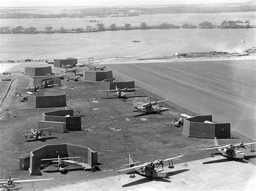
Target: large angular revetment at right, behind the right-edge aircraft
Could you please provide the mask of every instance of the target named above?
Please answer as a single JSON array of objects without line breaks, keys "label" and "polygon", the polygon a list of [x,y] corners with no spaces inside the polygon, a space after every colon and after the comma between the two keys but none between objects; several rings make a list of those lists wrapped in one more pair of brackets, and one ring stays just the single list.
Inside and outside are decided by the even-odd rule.
[{"label": "large angular revetment at right, behind the right-edge aircraft", "polygon": [[184,119],[183,133],[188,137],[201,138],[230,138],[230,123],[204,123],[212,122],[212,116],[195,116]]}]

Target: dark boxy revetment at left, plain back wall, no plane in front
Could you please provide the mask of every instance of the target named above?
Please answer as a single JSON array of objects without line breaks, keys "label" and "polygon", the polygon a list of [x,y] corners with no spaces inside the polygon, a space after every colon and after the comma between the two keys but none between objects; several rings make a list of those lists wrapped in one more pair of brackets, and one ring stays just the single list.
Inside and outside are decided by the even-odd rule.
[{"label": "dark boxy revetment at left, plain back wall, no plane in front", "polygon": [[33,108],[56,108],[66,106],[65,94],[48,94],[39,91],[28,96],[28,106]]}]

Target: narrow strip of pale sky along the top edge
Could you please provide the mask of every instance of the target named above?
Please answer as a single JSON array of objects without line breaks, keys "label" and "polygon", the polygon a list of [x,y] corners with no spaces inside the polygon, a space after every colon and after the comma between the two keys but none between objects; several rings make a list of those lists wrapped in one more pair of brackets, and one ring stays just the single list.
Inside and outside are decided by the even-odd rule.
[{"label": "narrow strip of pale sky along the top edge", "polygon": [[[250,0],[0,0],[0,7],[6,6],[124,6],[124,5],[167,5],[244,3]],[[255,0],[253,0],[255,1]]]}]

